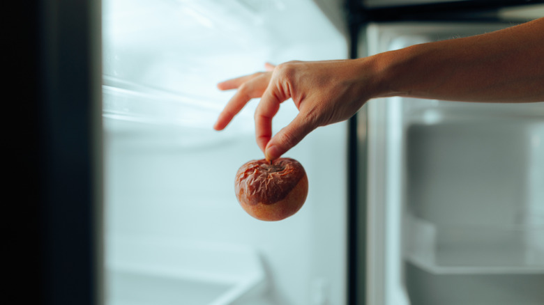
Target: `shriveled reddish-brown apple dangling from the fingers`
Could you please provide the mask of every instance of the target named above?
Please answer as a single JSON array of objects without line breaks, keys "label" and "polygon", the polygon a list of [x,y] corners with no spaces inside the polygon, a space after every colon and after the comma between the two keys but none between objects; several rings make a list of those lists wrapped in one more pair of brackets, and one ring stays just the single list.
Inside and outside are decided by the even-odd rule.
[{"label": "shriveled reddish-brown apple dangling from the fingers", "polygon": [[234,189],[245,212],[256,219],[278,221],[302,208],[308,177],[295,159],[252,160],[236,173]]}]

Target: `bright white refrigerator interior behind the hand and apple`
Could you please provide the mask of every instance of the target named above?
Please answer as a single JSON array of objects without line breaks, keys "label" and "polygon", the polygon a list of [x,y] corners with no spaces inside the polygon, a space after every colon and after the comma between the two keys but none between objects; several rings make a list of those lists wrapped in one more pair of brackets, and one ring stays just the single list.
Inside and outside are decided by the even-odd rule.
[{"label": "bright white refrigerator interior behind the hand and apple", "polygon": [[[234,195],[239,166],[263,157],[257,100],[212,130],[233,94],[218,81],[266,61],[347,57],[331,22],[340,4],[320,7],[103,0],[107,304],[345,304],[345,124],[286,155],[310,186],[303,208],[278,222],[252,219]],[[273,131],[295,114],[284,102]]]}]

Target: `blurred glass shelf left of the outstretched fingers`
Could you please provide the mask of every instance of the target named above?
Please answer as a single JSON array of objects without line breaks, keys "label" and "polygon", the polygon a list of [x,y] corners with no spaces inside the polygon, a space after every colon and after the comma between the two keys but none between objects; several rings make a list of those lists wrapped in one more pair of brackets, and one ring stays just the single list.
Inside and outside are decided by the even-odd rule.
[{"label": "blurred glass shelf left of the outstretched fingers", "polygon": [[[252,136],[252,116],[246,112],[227,130],[213,130],[223,104],[206,96],[153,88],[114,77],[103,77],[103,127],[148,148],[213,148]],[[251,109],[250,109],[251,110]]]}]

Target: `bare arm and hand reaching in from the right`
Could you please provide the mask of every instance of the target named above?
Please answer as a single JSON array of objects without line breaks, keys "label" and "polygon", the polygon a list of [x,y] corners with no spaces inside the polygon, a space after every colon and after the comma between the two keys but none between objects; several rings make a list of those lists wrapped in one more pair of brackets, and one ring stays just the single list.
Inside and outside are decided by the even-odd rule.
[{"label": "bare arm and hand reaching in from the right", "polygon": [[[375,97],[404,96],[464,102],[544,101],[544,18],[469,38],[415,45],[365,58],[290,61],[229,79],[237,89],[220,113],[224,129],[252,98],[257,145],[277,159],[319,126],[347,120]],[[299,114],[277,134],[272,118],[292,98]]]}]

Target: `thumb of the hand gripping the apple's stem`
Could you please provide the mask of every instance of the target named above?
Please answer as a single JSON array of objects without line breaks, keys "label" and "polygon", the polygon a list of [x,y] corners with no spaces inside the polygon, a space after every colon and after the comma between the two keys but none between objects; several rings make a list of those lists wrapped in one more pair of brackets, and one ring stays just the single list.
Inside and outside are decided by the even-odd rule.
[{"label": "thumb of the hand gripping the apple's stem", "polygon": [[299,113],[289,125],[283,127],[266,144],[266,149],[264,150],[266,159],[278,159],[314,129],[315,127],[310,124],[310,121]]}]

